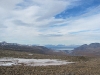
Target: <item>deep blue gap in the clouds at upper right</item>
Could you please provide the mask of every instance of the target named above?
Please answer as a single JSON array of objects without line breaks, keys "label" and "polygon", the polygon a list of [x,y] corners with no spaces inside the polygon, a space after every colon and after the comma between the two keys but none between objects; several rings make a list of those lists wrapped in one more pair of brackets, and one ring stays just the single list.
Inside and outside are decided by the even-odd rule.
[{"label": "deep blue gap in the clouds at upper right", "polygon": [[66,19],[70,17],[80,16],[87,12],[87,9],[90,7],[97,7],[100,5],[100,0],[84,0],[80,2],[81,5],[74,6],[70,9],[66,9],[60,14],[57,14],[55,18],[59,19]]}]

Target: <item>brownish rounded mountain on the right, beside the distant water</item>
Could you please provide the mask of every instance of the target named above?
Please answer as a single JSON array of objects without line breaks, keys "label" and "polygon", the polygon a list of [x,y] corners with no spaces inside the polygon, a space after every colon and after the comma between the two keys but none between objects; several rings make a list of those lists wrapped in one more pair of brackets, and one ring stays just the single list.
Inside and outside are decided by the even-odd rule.
[{"label": "brownish rounded mountain on the right, beside the distant water", "polygon": [[75,56],[100,56],[100,43],[84,44],[75,48],[71,55]]}]

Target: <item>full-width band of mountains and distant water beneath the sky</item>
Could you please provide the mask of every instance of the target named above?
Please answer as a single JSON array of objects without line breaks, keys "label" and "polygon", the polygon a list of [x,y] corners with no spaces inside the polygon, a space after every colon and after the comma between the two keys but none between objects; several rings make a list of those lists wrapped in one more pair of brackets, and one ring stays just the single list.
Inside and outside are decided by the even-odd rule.
[{"label": "full-width band of mountains and distant water beneath the sky", "polygon": [[[55,50],[66,48],[65,50]],[[67,50],[67,48],[74,48],[73,50]],[[20,52],[31,52],[37,54],[46,55],[71,55],[71,56],[100,56],[100,43],[91,43],[89,45],[21,45],[17,43],[0,42],[0,50],[15,50]]]}]

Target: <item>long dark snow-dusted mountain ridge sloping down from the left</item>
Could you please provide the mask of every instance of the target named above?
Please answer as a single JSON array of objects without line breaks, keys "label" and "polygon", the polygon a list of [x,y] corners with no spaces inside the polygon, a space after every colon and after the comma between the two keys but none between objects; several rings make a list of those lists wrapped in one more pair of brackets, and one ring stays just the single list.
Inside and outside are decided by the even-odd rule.
[{"label": "long dark snow-dusted mountain ridge sloping down from the left", "polygon": [[0,50],[13,50],[20,52],[32,52],[37,54],[48,54],[48,55],[66,55],[66,53],[60,51],[55,52],[52,49],[48,49],[44,46],[35,46],[35,45],[22,45],[17,43],[7,43],[0,42]]}]

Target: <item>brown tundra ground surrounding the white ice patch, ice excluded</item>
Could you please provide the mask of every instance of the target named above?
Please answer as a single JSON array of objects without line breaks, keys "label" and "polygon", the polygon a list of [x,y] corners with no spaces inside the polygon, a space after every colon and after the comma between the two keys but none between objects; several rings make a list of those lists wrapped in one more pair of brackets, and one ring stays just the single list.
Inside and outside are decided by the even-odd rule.
[{"label": "brown tundra ground surrounding the white ice patch, ice excluded", "polygon": [[0,66],[0,75],[100,75],[100,58],[84,56],[51,56],[0,50],[0,58],[62,59],[75,62],[58,66]]}]

